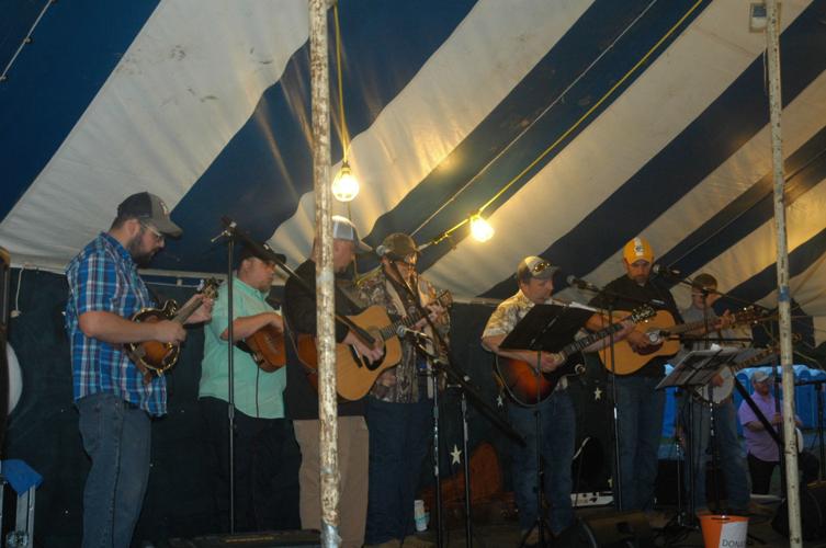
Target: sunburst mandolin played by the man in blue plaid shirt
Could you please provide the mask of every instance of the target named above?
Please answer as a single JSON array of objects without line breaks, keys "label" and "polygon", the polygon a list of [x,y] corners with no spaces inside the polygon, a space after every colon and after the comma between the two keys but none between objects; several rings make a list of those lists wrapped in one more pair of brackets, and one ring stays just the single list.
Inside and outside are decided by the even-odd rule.
[{"label": "sunburst mandolin played by the man in blue plaid shirt", "polygon": [[[214,299],[217,295],[219,282],[215,278],[202,282],[199,293],[204,298]],[[201,308],[201,301],[194,300],[178,309],[178,302],[167,300],[160,308],[143,308],[132,316],[132,321],[139,323],[157,323],[163,320],[177,321],[183,324],[195,310]],[[144,374],[144,383],[149,384],[151,375],[160,376],[176,363],[181,355],[181,343],[162,343],[160,341],[144,341],[139,343],[125,343],[124,350],[140,373]]]}]

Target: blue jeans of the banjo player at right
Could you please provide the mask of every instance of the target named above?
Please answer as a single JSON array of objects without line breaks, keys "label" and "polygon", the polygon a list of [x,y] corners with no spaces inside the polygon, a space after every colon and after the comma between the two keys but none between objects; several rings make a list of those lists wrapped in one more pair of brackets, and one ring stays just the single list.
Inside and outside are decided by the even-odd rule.
[{"label": "blue jeans of the banjo player at right", "polygon": [[[688,418],[692,416],[691,424],[691,463],[694,472],[694,509],[708,509],[705,494],[705,465],[711,460],[709,445],[711,442],[711,418],[708,403],[698,401],[683,402],[680,410],[680,421],[686,432],[689,431]],[[725,477],[726,500],[728,510],[745,510],[748,507],[750,498],[748,488],[748,475],[746,473],[746,459],[743,456],[740,442],[737,437],[737,411],[734,402],[729,399],[714,408],[714,437],[718,449],[720,465]],[[689,473],[686,472],[686,482]]]}]

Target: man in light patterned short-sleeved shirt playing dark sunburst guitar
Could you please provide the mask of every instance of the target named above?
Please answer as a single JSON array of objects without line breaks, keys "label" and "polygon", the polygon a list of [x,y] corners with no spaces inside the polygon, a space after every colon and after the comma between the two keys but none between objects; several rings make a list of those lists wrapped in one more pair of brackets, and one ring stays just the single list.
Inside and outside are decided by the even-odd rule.
[{"label": "man in light patterned short-sleeved shirt playing dark sunburst guitar", "polygon": [[[551,298],[554,290],[553,275],[557,267],[539,256],[527,256],[517,266],[517,283],[519,290],[516,295],[502,301],[490,316],[482,334],[482,345],[499,356],[517,359],[535,367],[538,353],[529,350],[505,350],[499,344],[516,328],[517,323],[535,305],[562,305]],[[576,308],[586,308],[573,304]],[[586,322],[586,327],[599,331],[604,327],[600,315],[595,313]],[[629,322],[614,334],[614,340],[623,339],[634,324]],[[597,351],[604,345],[598,341],[585,351]],[[539,353],[539,368],[543,373],[552,373],[565,362],[556,353]],[[541,413],[542,431],[536,439],[534,411]],[[539,541],[536,523],[535,489],[541,489],[540,478],[535,466],[539,449],[545,468],[544,492],[551,506],[551,532],[562,534],[574,524],[574,510],[570,505],[572,477],[570,468],[574,459],[574,444],[576,439],[576,418],[574,403],[567,392],[567,379],[562,378],[554,391],[536,407],[524,407],[517,402],[508,402],[508,416],[513,429],[525,439],[525,446],[513,445],[512,475],[513,491],[519,509],[519,525],[522,534],[530,536],[525,546]]]}]

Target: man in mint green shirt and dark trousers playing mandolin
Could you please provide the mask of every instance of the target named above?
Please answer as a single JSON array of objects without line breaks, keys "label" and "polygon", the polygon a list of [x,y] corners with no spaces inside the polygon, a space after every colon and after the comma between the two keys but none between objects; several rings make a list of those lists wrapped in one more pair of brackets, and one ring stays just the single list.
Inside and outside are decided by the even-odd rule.
[{"label": "man in mint green shirt and dark trousers playing mandolin", "polygon": [[[262,248],[263,249],[263,248]],[[281,316],[267,301],[275,276],[273,256],[244,247],[233,279],[233,338],[244,341],[262,328],[284,331]],[[218,289],[213,321],[204,329],[199,406],[207,436],[207,461],[215,481],[217,532],[229,529],[229,372],[227,287]],[[233,347],[235,387],[235,530],[295,529],[298,520],[299,454],[284,418],[286,372],[264,370],[253,357]]]}]

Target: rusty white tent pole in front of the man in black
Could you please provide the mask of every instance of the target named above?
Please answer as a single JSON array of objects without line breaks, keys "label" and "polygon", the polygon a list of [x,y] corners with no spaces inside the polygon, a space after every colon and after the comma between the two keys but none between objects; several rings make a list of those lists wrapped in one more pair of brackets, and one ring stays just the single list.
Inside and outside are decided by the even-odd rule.
[{"label": "rusty white tent pole in front of the man in black", "polygon": [[330,85],[327,45],[328,0],[309,1],[309,73],[313,110],[313,180],[316,194],[316,320],[321,492],[321,546],[337,547],[339,536],[336,326],[330,191]]}]

